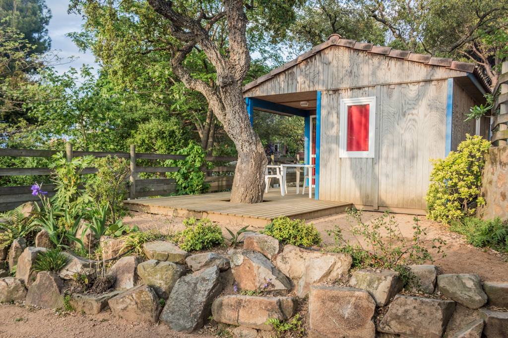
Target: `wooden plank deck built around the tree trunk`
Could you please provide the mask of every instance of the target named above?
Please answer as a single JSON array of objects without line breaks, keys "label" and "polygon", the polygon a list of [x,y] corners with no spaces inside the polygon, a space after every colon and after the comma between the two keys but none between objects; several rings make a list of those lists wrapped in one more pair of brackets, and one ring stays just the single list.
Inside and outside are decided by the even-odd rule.
[{"label": "wooden plank deck built around the tree trunk", "polygon": [[124,201],[133,211],[161,213],[178,217],[209,218],[212,221],[264,227],[278,216],[293,219],[310,219],[332,215],[351,208],[348,202],[316,201],[296,194],[296,187],[288,187],[288,194],[280,195],[279,188],[272,188],[264,196],[263,203],[240,204],[229,202],[231,193],[145,198]]}]

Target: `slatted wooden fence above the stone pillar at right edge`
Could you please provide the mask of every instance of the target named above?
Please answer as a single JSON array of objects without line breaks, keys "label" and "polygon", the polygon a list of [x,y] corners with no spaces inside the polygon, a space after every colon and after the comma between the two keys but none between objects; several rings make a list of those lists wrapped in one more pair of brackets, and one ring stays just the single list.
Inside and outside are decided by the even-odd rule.
[{"label": "slatted wooden fence above the stone pillar at right edge", "polygon": [[497,145],[506,145],[508,140],[508,61],[504,61],[502,64],[502,73],[499,76],[496,87],[494,88],[494,94],[497,93],[499,87],[501,87],[501,94],[499,95],[492,111],[500,108],[499,115],[492,118],[492,142],[498,142]]}]

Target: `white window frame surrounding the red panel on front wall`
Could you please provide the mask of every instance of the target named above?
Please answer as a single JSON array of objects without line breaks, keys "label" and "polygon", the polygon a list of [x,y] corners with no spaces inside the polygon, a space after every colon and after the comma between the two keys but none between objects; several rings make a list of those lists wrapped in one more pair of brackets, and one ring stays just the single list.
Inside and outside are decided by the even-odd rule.
[{"label": "white window frame surrounding the red panel on front wall", "polygon": [[[369,105],[369,150],[366,152],[347,151],[347,107],[350,105]],[[340,131],[339,131],[339,157],[344,158],[374,158],[375,126],[376,126],[376,97],[358,97],[340,100]]]}]

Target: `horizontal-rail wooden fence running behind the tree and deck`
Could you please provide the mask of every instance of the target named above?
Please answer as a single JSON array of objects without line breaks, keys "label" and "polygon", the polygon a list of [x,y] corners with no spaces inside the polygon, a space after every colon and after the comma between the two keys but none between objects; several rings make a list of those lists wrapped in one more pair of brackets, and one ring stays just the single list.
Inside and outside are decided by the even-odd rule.
[{"label": "horizontal-rail wooden fence running behind the tree and deck", "polygon": [[[36,149],[0,149],[0,157],[42,157],[49,158],[61,151],[53,150],[36,150]],[[66,158],[71,161],[75,157],[84,157],[91,155],[93,157],[107,157],[113,156],[130,161],[130,190],[128,198],[136,199],[142,197],[163,196],[171,195],[176,192],[176,181],[174,178],[139,178],[139,173],[154,173],[166,174],[176,172],[179,167],[149,167],[138,166],[138,160],[184,160],[185,155],[174,154],[149,154],[149,153],[136,153],[136,146],[131,145],[130,153],[107,153],[107,152],[82,152],[73,151],[72,145],[67,144]],[[219,165],[205,172],[205,182],[210,184],[209,192],[217,192],[231,189],[234,179],[235,166],[224,166],[225,162],[236,161],[236,157],[229,156],[209,156],[205,158],[207,161]],[[299,158],[268,158],[274,164],[278,162],[295,162]],[[19,176],[19,175],[50,175],[52,169],[50,168],[0,168],[0,176]],[[97,173],[95,168],[85,168],[82,174]],[[296,174],[288,174],[288,182],[294,182]],[[31,195],[30,185],[17,185],[17,186],[0,186],[0,211],[11,210],[15,207],[28,202],[39,201],[38,196]],[[48,196],[53,196],[55,184],[45,182],[43,191],[48,192]]]}]

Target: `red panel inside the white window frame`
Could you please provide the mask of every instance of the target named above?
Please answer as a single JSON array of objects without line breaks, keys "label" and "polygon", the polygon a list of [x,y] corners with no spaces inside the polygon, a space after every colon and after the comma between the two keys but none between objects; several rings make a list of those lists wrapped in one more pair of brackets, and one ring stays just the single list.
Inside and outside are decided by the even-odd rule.
[{"label": "red panel inside the white window frame", "polygon": [[347,106],[347,151],[369,150],[369,105]]}]

